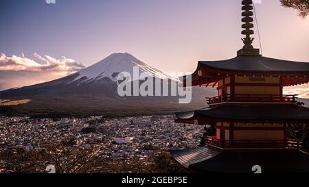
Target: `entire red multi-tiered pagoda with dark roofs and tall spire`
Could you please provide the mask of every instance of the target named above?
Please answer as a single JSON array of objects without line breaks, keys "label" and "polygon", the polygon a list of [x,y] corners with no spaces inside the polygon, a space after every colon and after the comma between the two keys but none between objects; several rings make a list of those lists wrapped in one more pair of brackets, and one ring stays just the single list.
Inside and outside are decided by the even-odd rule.
[{"label": "entire red multi-tiered pagoda with dark roofs and tall spire", "polygon": [[213,124],[216,136],[205,136],[203,147],[170,152],[191,172],[252,173],[258,166],[263,173],[307,173],[309,154],[287,138],[287,127],[309,124],[309,108],[283,88],[308,83],[309,63],[260,55],[251,45],[253,2],[242,5],[244,47],[236,58],[198,62],[191,75],[192,86],[217,86],[218,96],[207,98],[203,110],[176,113],[176,123]]}]

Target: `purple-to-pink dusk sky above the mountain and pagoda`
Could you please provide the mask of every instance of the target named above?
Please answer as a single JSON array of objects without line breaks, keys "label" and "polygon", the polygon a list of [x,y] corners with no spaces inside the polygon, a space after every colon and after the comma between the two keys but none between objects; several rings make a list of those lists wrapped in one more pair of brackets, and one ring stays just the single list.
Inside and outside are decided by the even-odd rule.
[{"label": "purple-to-pink dusk sky above the mountain and pagoda", "polygon": [[[263,55],[309,62],[309,18],[279,0],[259,1]],[[77,70],[72,63],[82,68],[117,52],[161,71],[188,72],[198,60],[233,58],[242,47],[241,0],[0,0],[0,10],[0,58],[33,60],[58,76]],[[255,23],[258,48],[257,33]]]}]

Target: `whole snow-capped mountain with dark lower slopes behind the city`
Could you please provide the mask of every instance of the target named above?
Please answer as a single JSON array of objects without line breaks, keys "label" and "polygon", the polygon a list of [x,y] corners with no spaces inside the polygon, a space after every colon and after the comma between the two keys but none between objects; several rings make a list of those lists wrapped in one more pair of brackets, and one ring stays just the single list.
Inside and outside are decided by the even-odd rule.
[{"label": "whole snow-capped mountain with dark lower slopes behind the city", "polygon": [[[114,53],[67,77],[4,90],[0,92],[0,101],[2,99],[22,103],[10,106],[21,113],[165,114],[203,108],[206,105],[205,97],[216,93],[215,89],[192,88],[192,103],[187,105],[179,104],[178,97],[119,97],[117,94],[119,73],[127,72],[133,75],[135,66],[139,67],[139,75],[146,73],[170,84],[179,82],[177,77],[148,66],[129,53]],[[142,82],[139,78],[131,80]]]}]

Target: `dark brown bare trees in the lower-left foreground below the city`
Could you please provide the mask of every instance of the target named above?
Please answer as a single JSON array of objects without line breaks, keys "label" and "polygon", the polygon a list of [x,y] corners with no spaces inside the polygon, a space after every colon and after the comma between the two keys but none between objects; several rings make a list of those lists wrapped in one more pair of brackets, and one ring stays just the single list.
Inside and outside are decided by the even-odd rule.
[{"label": "dark brown bare trees in the lower-left foreground below the city", "polygon": [[100,164],[106,163],[98,155],[99,149],[71,147],[72,141],[49,142],[39,151],[21,149],[14,153],[9,150],[0,154],[0,160],[7,163],[5,170],[14,173],[45,173],[49,164],[56,167],[56,173],[92,173]]}]

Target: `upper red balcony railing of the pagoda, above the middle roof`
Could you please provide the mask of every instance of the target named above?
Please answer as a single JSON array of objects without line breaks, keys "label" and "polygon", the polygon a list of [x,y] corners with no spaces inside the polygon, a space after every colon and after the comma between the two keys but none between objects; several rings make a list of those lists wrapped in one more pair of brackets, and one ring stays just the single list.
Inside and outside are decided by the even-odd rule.
[{"label": "upper red balcony railing of the pagoda, above the middle roof", "polygon": [[209,105],[225,102],[280,102],[280,103],[296,103],[297,95],[220,95],[216,97],[207,97]]}]

